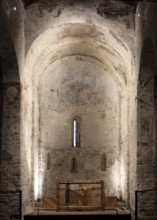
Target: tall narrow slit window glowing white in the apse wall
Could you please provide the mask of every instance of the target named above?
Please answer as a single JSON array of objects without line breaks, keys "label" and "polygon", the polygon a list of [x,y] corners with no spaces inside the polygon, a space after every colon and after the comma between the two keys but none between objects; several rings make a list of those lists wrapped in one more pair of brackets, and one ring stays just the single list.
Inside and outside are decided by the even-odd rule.
[{"label": "tall narrow slit window glowing white in the apse wall", "polygon": [[74,117],[72,119],[72,147],[80,147],[80,119]]}]

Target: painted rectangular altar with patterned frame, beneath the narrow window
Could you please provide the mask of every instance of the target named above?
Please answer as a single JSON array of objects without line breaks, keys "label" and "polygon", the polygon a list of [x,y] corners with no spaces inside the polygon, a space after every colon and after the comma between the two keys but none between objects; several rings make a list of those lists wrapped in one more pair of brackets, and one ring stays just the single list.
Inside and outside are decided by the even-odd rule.
[{"label": "painted rectangular altar with patterned frame, beneath the narrow window", "polygon": [[57,210],[104,209],[104,181],[65,180],[57,183]]}]

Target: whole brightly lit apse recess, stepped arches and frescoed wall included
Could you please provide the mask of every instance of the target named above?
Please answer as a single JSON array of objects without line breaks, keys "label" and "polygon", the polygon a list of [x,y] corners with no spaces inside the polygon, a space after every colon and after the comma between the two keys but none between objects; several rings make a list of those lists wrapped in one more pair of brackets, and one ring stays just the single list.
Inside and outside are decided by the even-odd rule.
[{"label": "whole brightly lit apse recess, stepped arches and frescoed wall included", "polygon": [[105,196],[127,201],[130,52],[111,31],[89,24],[47,31],[32,45],[25,69],[32,74],[34,200],[56,199],[58,181],[99,179]]}]

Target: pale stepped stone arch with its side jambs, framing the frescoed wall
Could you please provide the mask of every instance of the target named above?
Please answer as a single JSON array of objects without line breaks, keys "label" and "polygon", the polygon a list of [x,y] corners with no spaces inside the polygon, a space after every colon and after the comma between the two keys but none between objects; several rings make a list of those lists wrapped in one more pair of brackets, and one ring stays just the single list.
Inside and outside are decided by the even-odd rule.
[{"label": "pale stepped stone arch with its side jambs, framing the frescoed wall", "polygon": [[[70,33],[68,32],[67,34],[68,30],[70,30]],[[113,42],[115,45],[113,45]],[[38,166],[38,157],[43,155],[42,151],[38,150],[37,147],[40,146],[39,136],[40,136],[40,130],[42,129],[42,126],[41,127],[39,126],[40,124],[39,120],[41,118],[39,111],[39,108],[41,106],[39,106],[39,103],[44,98],[44,96],[41,96],[42,92],[40,94],[40,91],[42,91],[41,88],[43,86],[44,78],[46,78],[45,76],[48,76],[46,74],[48,74],[49,71],[54,73],[57,69],[57,66],[61,66],[61,67],[64,67],[66,65],[68,66],[68,62],[72,62],[70,60],[74,61],[74,59],[75,61],[77,60],[77,62],[78,60],[81,60],[80,62],[82,63],[84,63],[83,60],[86,60],[86,62],[90,63],[91,66],[93,65],[93,67],[99,69],[98,72],[102,71],[105,73],[106,71],[107,72],[105,73],[106,78],[108,77],[109,80],[114,85],[113,88],[116,88],[116,94],[117,94],[116,107],[118,110],[116,113],[117,121],[115,122],[115,124],[117,126],[116,132],[118,133],[118,135],[117,134],[116,135],[118,136],[118,138],[116,143],[117,146],[115,148],[117,151],[117,158],[112,159],[111,158],[112,156],[110,155],[110,159],[107,161],[109,163],[108,166],[112,167],[113,170],[112,178],[114,179],[113,182],[115,185],[113,188],[115,188],[115,193],[118,196],[120,194],[121,195],[123,194],[124,197],[127,198],[127,190],[126,190],[127,184],[126,186],[124,186],[127,181],[127,178],[126,177],[122,178],[120,181],[122,181],[123,184],[121,184],[119,181],[120,178],[119,176],[117,176],[117,173],[120,173],[119,175],[122,176],[124,175],[124,173],[126,174],[128,169],[126,165],[127,161],[126,161],[125,153],[122,155],[123,165],[120,165],[121,162],[118,162],[118,158],[123,152],[123,147],[120,147],[118,144],[120,143],[119,139],[121,138],[123,139],[123,136],[126,136],[128,130],[123,129],[126,132],[126,133],[124,132],[123,135],[120,135],[119,133],[121,132],[120,130],[123,127],[123,123],[122,123],[123,117],[126,117],[127,120],[128,118],[126,114],[125,116],[121,115],[119,117],[120,113],[118,112],[122,111],[122,109],[123,111],[125,109],[125,112],[127,112],[128,88],[129,88],[129,84],[131,83],[131,79],[133,75],[131,51],[128,48],[128,46],[123,42],[122,39],[116,37],[114,31],[108,28],[102,28],[100,26],[94,27],[93,30],[92,25],[86,24],[85,22],[81,22],[81,23],[63,24],[60,26],[49,28],[44,33],[42,33],[38,38],[36,38],[36,40],[33,42],[33,44],[30,47],[30,50],[27,53],[24,72],[21,76],[23,82],[22,108],[25,109],[25,111],[22,112],[22,118],[23,118],[22,124],[23,124],[23,135],[24,135],[22,139],[23,142],[22,146],[24,148],[27,147],[27,155],[28,155],[25,158],[23,158],[23,163],[30,164],[30,159],[29,159],[30,157],[35,161],[34,165],[31,164],[29,165],[28,168],[28,170],[33,170],[34,172],[34,174],[32,172],[32,174],[28,174],[28,175],[30,176],[32,175],[32,179],[35,179],[34,181],[35,190],[37,189],[37,192],[36,191],[34,192],[35,199],[37,199],[38,196],[43,195],[43,182],[44,182],[43,179],[45,178],[45,174],[44,176],[41,176],[40,178],[41,184],[38,185],[37,179],[39,178],[39,175],[38,172],[36,172],[36,169]],[[77,62],[75,62],[76,66],[77,66]],[[64,66],[63,63],[65,64]],[[50,70],[51,67],[52,69]],[[52,76],[54,77],[57,77],[57,75],[58,74],[52,74]],[[77,116],[74,115],[74,113],[72,115]],[[105,114],[102,115],[102,117],[104,120]],[[26,121],[26,119],[28,120]],[[26,146],[26,140],[27,140],[27,146]],[[124,145],[126,144],[125,140],[123,143]],[[46,151],[49,151],[49,147],[47,147],[47,145],[45,145],[45,149]],[[126,146],[124,151],[127,151]],[[50,155],[52,155],[52,152]],[[73,156],[75,155],[71,155],[71,158]],[[97,157],[99,157],[99,154],[97,155]],[[60,164],[60,162],[58,162],[58,164]],[[46,166],[46,163],[43,164],[43,167],[44,166]],[[114,166],[116,167],[115,170],[114,170]],[[79,165],[78,165],[78,169],[79,169]],[[29,171],[27,172],[30,173]],[[110,177],[110,181],[112,181],[111,180],[112,178]],[[29,194],[28,193],[25,194],[26,197],[28,197]]]}]

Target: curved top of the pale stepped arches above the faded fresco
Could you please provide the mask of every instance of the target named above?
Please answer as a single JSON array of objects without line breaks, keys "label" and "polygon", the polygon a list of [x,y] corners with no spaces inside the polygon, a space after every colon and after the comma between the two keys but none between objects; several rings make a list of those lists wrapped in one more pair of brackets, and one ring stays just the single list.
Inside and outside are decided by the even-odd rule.
[{"label": "curved top of the pale stepped arches above the faded fresco", "polygon": [[32,77],[38,80],[54,62],[75,55],[92,58],[95,65],[110,72],[118,84],[125,86],[131,78],[132,56],[127,45],[120,39],[117,41],[111,30],[93,29],[92,25],[83,23],[65,24],[40,35],[27,55],[24,75],[27,80]]}]

